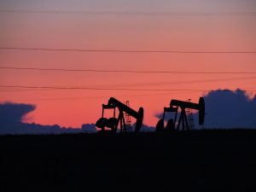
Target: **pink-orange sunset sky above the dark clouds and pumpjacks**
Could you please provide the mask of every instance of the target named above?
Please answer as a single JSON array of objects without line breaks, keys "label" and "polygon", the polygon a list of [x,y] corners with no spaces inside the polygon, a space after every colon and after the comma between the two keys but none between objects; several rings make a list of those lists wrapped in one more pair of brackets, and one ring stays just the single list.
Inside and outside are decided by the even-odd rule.
[{"label": "pink-orange sunset sky above the dark clouds and pumpjacks", "polygon": [[[26,1],[28,2],[28,1]],[[67,2],[67,1],[66,1]],[[79,2],[79,1],[78,1]],[[198,1],[197,1],[198,2]],[[209,2],[209,1],[205,1]],[[251,11],[244,7],[226,9]],[[250,2],[250,1],[248,1]],[[46,3],[47,4],[47,3]],[[99,3],[100,4],[100,3]],[[135,3],[136,4],[136,3]],[[13,5],[1,6],[11,9]],[[48,6],[42,9],[49,9]],[[140,5],[140,4],[139,4]],[[146,10],[152,11],[152,7]],[[254,4],[255,5],[255,4]],[[39,5],[37,5],[39,6]],[[96,6],[96,5],[95,5]],[[148,5],[150,6],[150,4]],[[170,5],[171,6],[171,5]],[[210,4],[208,5],[210,7]],[[25,5],[23,7],[26,8]],[[125,7],[125,6],[124,6]],[[205,7],[193,11],[208,11]],[[219,6],[221,7],[221,6]],[[229,6],[227,6],[228,8]],[[38,9],[35,7],[32,9]],[[85,8],[85,7],[84,7]],[[133,7],[131,6],[130,10]],[[165,8],[163,4],[163,8]],[[189,12],[182,4],[177,11]],[[255,7],[254,7],[255,8]],[[17,9],[17,8],[14,8]],[[24,8],[23,8],[24,9]],[[67,9],[67,8],[65,8]],[[77,8],[70,8],[77,9]],[[83,7],[81,7],[83,9]],[[88,7],[86,7],[88,9]],[[109,9],[109,8],[108,8]],[[115,9],[118,9],[116,7]],[[124,9],[124,8],[123,8]],[[101,7],[102,10],[102,7]],[[141,8],[140,10],[144,10]],[[157,11],[160,10],[160,5]],[[168,9],[164,9],[164,11]],[[170,9],[170,11],[175,9]],[[255,9],[253,9],[255,10]],[[211,9],[212,11],[212,9]],[[218,6],[213,10],[222,12]],[[1,47],[52,49],[146,49],[187,51],[255,51],[255,15],[251,16],[154,16],[154,15],[52,15],[1,13]],[[0,50],[1,67],[93,68],[147,71],[255,72],[255,54],[164,54],[164,53],[85,53],[32,50]],[[194,80],[253,77],[248,74],[150,74],[37,72],[0,69],[0,82],[28,86],[109,86],[171,82],[172,84],[137,86],[138,89],[236,89],[255,90],[256,79],[191,83]],[[183,84],[173,84],[186,81]],[[194,102],[203,92],[186,91],[117,91],[117,90],[15,90],[0,89],[0,100],[37,105],[26,121],[43,125],[77,126],[95,123],[102,103],[109,96],[130,100],[131,107],[145,109],[144,122],[155,125],[160,113],[172,98]],[[157,94],[157,95],[156,95]],[[140,95],[140,96],[136,96]],[[143,96],[142,96],[143,95]],[[102,97],[106,96],[106,97]],[[91,98],[96,97],[96,98]]]}]

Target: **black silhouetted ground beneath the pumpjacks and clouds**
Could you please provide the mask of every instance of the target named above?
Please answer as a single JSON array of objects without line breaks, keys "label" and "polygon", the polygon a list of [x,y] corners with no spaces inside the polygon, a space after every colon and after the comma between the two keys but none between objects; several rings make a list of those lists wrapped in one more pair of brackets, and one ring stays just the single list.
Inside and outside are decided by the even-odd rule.
[{"label": "black silhouetted ground beneath the pumpjacks and clouds", "polygon": [[256,131],[0,137],[0,191],[256,191]]}]

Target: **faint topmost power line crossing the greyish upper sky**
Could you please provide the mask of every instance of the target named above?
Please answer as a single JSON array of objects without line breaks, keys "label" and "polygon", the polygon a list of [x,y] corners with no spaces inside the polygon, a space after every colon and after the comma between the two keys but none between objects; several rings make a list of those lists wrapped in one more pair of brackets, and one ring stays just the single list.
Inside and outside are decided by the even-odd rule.
[{"label": "faint topmost power line crossing the greyish upper sky", "polygon": [[63,15],[166,15],[166,16],[254,16],[255,12],[146,12],[146,11],[90,11],[90,10],[61,10],[61,9],[1,9],[0,13],[18,14],[63,14]]}]

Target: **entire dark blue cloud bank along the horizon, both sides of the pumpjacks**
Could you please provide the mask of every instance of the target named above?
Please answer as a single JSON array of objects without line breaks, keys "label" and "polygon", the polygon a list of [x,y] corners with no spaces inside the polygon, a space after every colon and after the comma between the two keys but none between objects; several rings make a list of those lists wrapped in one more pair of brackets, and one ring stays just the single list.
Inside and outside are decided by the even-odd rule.
[{"label": "entire dark blue cloud bank along the horizon, both sides of the pumpjacks", "polygon": [[[256,96],[249,99],[243,90],[214,90],[205,96],[206,128],[256,128]],[[96,132],[94,124],[84,124],[73,129],[59,125],[38,125],[22,123],[26,113],[35,110],[31,104],[5,102],[0,103],[0,134],[61,134]],[[156,114],[161,118],[162,113]],[[198,114],[195,113],[195,125],[198,127]],[[142,131],[154,131],[154,127],[144,125]]]}]

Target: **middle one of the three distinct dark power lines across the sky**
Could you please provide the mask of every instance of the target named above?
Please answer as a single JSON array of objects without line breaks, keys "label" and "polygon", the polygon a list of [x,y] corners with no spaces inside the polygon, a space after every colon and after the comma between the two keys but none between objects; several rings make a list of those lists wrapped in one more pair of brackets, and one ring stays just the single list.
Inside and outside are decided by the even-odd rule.
[{"label": "middle one of the three distinct dark power lines across the sky", "polygon": [[40,68],[40,67],[0,67],[0,69],[61,71],[61,72],[90,72],[90,73],[256,74],[256,72],[138,71],[138,70],[101,70],[101,69]]}]

